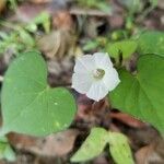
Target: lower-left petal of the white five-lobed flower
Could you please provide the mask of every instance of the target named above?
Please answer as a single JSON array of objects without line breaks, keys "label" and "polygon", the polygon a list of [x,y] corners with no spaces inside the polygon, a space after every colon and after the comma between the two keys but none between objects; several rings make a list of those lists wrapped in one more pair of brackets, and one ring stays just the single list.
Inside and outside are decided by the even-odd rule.
[{"label": "lower-left petal of the white five-lobed flower", "polygon": [[92,85],[92,78],[89,73],[73,73],[72,87],[79,93],[85,94]]}]

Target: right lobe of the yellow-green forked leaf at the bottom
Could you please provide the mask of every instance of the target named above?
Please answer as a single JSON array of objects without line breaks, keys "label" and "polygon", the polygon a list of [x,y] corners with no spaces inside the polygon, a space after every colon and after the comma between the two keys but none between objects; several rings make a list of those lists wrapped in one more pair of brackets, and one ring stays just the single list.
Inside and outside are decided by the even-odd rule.
[{"label": "right lobe of the yellow-green forked leaf at the bottom", "polygon": [[126,136],[109,132],[109,152],[117,164],[133,164],[131,150]]}]

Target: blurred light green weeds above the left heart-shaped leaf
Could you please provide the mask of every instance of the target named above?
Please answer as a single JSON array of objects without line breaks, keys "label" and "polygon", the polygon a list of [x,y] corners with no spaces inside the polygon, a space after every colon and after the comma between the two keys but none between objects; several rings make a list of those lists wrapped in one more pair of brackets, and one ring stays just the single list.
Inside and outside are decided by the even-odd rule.
[{"label": "blurred light green weeds above the left heart-shaped leaf", "polygon": [[38,25],[43,25],[45,33],[50,31],[50,17],[46,12],[42,12],[30,23],[14,24],[7,21],[0,21],[2,27],[9,28],[10,32],[0,32],[0,55],[11,51],[13,55],[37,49],[34,33]]}]

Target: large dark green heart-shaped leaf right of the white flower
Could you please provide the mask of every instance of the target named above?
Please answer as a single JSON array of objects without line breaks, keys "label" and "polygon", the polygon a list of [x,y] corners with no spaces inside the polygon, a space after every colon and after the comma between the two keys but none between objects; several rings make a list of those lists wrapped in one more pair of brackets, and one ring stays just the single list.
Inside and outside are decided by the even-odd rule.
[{"label": "large dark green heart-shaped leaf right of the white flower", "polygon": [[136,77],[125,70],[119,74],[121,82],[109,94],[113,107],[151,122],[164,133],[164,58],[142,56]]}]

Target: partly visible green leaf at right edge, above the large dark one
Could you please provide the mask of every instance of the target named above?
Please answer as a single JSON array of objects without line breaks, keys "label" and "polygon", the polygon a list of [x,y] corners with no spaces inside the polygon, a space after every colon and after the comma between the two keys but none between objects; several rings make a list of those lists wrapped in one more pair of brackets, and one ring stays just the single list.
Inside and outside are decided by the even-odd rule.
[{"label": "partly visible green leaf at right edge, above the large dark one", "polygon": [[163,32],[144,32],[138,40],[139,52],[157,54],[164,56],[164,33]]}]

